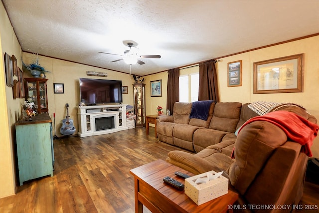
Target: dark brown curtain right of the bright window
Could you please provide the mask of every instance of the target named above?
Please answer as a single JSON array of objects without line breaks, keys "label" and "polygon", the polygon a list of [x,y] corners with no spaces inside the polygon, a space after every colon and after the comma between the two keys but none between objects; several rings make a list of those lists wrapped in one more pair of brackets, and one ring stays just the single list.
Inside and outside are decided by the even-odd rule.
[{"label": "dark brown curtain right of the bright window", "polygon": [[215,60],[199,64],[199,91],[198,100],[214,100],[219,102],[219,91],[217,83],[217,71]]}]

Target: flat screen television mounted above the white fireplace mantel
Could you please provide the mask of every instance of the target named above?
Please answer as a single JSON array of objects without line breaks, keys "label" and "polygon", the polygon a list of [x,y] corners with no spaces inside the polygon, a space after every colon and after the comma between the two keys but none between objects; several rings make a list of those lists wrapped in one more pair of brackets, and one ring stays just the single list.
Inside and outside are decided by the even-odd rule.
[{"label": "flat screen television mounted above the white fireplace mantel", "polygon": [[80,78],[80,99],[86,105],[122,103],[122,81]]}]

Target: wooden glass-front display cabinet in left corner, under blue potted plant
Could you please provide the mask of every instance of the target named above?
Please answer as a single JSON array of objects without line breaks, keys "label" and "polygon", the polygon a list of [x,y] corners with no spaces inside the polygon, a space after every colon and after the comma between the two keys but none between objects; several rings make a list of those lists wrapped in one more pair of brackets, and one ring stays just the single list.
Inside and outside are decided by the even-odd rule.
[{"label": "wooden glass-front display cabinet in left corner, under blue potted plant", "polygon": [[24,78],[25,80],[25,100],[34,102],[37,113],[48,113],[48,95],[46,91],[46,81],[43,78]]}]

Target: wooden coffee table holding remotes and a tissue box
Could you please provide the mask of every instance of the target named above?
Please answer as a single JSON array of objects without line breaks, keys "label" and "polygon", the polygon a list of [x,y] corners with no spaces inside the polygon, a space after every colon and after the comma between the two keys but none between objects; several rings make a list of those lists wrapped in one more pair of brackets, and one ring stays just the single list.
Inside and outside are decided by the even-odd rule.
[{"label": "wooden coffee table holding remotes and a tissue box", "polygon": [[170,176],[184,184],[184,179],[174,174],[176,171],[194,175],[163,160],[156,160],[130,170],[134,176],[136,213],[143,212],[143,205],[152,213],[232,212],[227,207],[238,199],[237,193],[228,190],[226,195],[198,206],[184,191],[163,182],[164,177]]}]

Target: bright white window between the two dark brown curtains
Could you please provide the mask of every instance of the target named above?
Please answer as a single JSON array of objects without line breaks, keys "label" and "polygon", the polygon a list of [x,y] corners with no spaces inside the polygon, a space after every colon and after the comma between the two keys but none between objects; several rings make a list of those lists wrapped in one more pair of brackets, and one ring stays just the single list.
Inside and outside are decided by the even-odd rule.
[{"label": "bright white window between the two dark brown curtains", "polygon": [[179,101],[198,101],[199,73],[179,76]]}]

